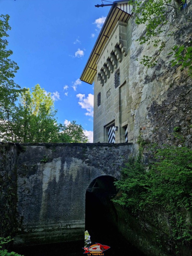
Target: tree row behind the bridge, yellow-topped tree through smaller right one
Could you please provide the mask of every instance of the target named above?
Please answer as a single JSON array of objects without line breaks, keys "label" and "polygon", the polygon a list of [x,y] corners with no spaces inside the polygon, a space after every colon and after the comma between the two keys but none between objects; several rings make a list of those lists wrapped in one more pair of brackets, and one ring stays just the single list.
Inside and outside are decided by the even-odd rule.
[{"label": "tree row behind the bridge, yellow-topped tree through smaller right one", "polygon": [[37,84],[32,92],[20,94],[18,106],[10,106],[1,115],[0,139],[12,142],[87,142],[81,125],[73,121],[67,127],[55,118],[50,93]]}]

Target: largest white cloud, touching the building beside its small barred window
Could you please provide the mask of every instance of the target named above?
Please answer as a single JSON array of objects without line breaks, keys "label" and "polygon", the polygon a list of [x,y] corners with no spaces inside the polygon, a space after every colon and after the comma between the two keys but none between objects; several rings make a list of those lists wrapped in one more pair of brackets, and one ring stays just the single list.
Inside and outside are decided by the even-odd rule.
[{"label": "largest white cloud, touching the building beside its small barred window", "polygon": [[77,94],[77,98],[79,98],[78,104],[81,106],[81,108],[84,108],[87,110],[85,113],[86,116],[93,116],[93,94],[89,93],[87,97],[85,97],[85,94]]}]

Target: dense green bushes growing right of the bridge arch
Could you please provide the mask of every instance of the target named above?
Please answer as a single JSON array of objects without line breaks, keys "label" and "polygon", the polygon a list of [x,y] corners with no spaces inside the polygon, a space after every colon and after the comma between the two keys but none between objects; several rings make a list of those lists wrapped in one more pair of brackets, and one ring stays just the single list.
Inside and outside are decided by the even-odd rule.
[{"label": "dense green bushes growing right of the bridge arch", "polygon": [[154,158],[148,168],[138,160],[129,161],[121,180],[115,182],[120,197],[114,202],[132,213],[151,216],[154,208],[161,209],[169,217],[172,240],[187,244],[192,240],[192,151],[164,145],[156,149]]}]

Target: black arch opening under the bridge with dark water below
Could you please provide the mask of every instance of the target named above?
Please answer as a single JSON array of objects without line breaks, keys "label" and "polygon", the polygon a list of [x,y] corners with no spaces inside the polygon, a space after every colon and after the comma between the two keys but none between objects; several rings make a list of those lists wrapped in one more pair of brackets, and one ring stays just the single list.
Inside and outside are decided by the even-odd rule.
[{"label": "black arch opening under the bridge with dark water below", "polygon": [[137,248],[128,243],[119,232],[123,216],[111,201],[118,191],[114,185],[117,179],[104,175],[94,179],[86,190],[85,196],[85,230],[90,235],[90,244],[100,243],[111,248],[108,256],[120,256],[126,252],[130,256],[144,256]]}]

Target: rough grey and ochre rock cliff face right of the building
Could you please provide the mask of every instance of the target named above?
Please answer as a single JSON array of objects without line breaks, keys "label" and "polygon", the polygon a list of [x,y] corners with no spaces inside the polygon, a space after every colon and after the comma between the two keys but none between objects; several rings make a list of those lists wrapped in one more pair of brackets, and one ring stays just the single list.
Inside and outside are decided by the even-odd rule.
[{"label": "rough grey and ochre rock cliff face right of the building", "polygon": [[[183,10],[190,17],[192,3]],[[184,15],[173,13],[171,19],[184,23]],[[175,29],[167,26],[164,33]],[[177,33],[172,36],[169,43],[157,55],[157,49],[149,44],[139,44],[136,41],[145,34],[144,25],[136,25],[134,15],[132,17],[132,44],[130,49],[129,90],[132,95],[131,114],[134,120],[134,129],[128,136],[130,141],[136,142],[139,134],[144,140],[159,144],[175,144],[179,146],[179,140],[175,139],[173,132],[177,128],[178,134],[183,136],[185,144],[192,145],[192,80],[186,70],[181,67],[171,67],[172,57],[167,55],[173,45],[179,45],[183,36]],[[190,34],[190,31],[188,34]],[[190,38],[186,37],[186,44],[191,45]],[[140,64],[144,55],[156,56],[157,65],[147,68]],[[138,58],[138,61],[136,61]],[[175,128],[176,129],[176,128]]]}]

